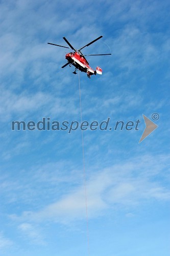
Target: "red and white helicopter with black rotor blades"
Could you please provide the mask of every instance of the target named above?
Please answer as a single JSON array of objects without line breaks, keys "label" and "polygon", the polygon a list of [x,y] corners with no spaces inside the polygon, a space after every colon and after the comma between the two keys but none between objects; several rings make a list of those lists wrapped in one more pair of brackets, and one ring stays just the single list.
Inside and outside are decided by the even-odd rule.
[{"label": "red and white helicopter with black rotor blades", "polygon": [[88,63],[87,59],[85,58],[85,56],[111,55],[111,53],[108,53],[108,54],[88,54],[88,55],[83,55],[81,50],[83,48],[93,44],[93,42],[99,40],[102,37],[103,36],[101,35],[100,37],[98,37],[95,40],[89,42],[89,44],[83,46],[79,50],[76,50],[74,47],[72,47],[71,44],[69,43],[69,41],[65,37],[63,37],[63,39],[66,41],[66,43],[68,44],[69,47],[51,44],[51,42],[48,42],[47,44],[74,50],[74,52],[70,52],[70,53],[67,53],[65,55],[65,58],[68,60],[68,62],[64,66],[62,66],[61,68],[63,69],[67,65],[69,65],[71,67],[71,64],[72,64],[73,66],[75,66],[75,71],[72,72],[72,73],[77,74],[76,71],[80,70],[82,72],[87,73],[88,78],[90,78],[91,75],[96,75],[96,74],[102,75],[102,69],[99,68],[99,67],[96,67],[96,70],[93,70],[92,68],[90,68],[89,63]]}]

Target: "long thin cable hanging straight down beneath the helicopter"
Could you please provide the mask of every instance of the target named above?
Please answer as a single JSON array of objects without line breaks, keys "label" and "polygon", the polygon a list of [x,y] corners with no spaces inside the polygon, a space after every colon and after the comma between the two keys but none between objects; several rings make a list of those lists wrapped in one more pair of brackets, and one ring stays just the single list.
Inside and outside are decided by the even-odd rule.
[{"label": "long thin cable hanging straight down beneath the helicopter", "polygon": [[[79,96],[80,96],[80,116],[81,116],[81,123],[82,123],[82,103],[81,103],[81,89],[80,89],[80,71],[79,71]],[[89,231],[88,231],[88,211],[87,211],[87,193],[86,193],[86,170],[85,170],[85,159],[84,159],[84,140],[83,140],[83,130],[81,129],[81,131],[82,131],[84,189],[85,189],[85,199],[86,199],[87,245],[88,245],[88,255],[90,255]]]}]

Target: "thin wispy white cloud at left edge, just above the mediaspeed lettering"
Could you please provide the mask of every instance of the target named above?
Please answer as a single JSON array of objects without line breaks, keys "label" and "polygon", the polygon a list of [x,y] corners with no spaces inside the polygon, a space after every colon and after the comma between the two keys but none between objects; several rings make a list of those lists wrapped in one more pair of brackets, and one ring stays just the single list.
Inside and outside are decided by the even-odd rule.
[{"label": "thin wispy white cloud at left edge, just above the mediaspeed lettering", "polygon": [[[1,121],[11,120],[14,116],[15,120],[16,118],[21,120],[28,117],[32,120],[38,117],[38,121],[40,121],[42,117],[49,117],[49,115],[54,115],[55,118],[59,118],[59,116],[63,117],[63,113],[66,118],[66,116],[70,116],[70,111],[72,115],[78,113],[79,110],[76,107],[76,100],[76,97],[67,100],[67,97],[63,98],[41,91],[35,93],[23,91],[17,94],[11,90],[2,88],[2,97],[0,100]],[[34,121],[36,120],[34,119]]]}]

